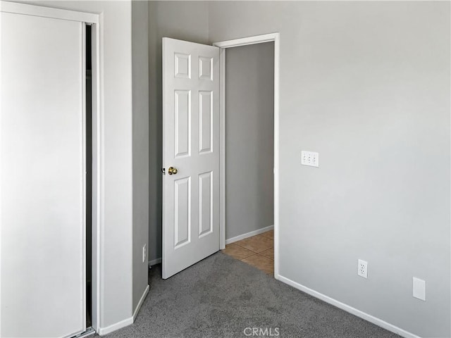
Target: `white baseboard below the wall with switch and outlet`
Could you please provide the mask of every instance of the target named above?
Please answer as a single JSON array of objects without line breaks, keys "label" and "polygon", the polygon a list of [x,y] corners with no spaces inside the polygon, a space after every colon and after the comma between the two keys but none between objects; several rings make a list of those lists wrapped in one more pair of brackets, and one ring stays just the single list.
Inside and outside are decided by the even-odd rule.
[{"label": "white baseboard below the wall with switch and outlet", "polygon": [[352,306],[346,305],[345,303],[342,303],[341,301],[337,301],[333,298],[330,298],[329,296],[326,296],[325,294],[316,292],[315,290],[310,289],[309,287],[304,287],[304,285],[294,282],[294,281],[288,279],[287,277],[278,275],[277,279],[280,280],[280,282],[284,282],[285,284],[290,285],[291,287],[295,287],[295,289],[301,290],[302,292],[305,292],[306,294],[309,294],[311,296],[314,296],[315,298],[321,299],[321,301],[325,301],[326,303],[336,306],[337,308],[341,308],[342,310],[344,310],[346,312],[352,313],[353,315],[357,315],[357,317],[362,318],[370,323],[373,323],[375,325],[383,327],[385,330],[399,334],[401,337],[419,338],[419,336],[417,336],[416,334],[413,334],[411,332],[403,330],[400,327],[397,327],[393,324],[387,323],[387,322],[385,322],[385,320],[376,318],[373,315],[364,313],[363,311],[360,311],[357,308],[353,308]]}]

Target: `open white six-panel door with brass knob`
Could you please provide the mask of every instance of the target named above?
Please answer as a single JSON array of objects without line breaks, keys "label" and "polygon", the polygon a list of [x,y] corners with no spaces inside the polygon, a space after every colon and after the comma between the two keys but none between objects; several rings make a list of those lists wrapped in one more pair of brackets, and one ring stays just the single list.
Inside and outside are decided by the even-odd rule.
[{"label": "open white six-panel door with brass knob", "polygon": [[218,47],[163,38],[163,168],[166,279],[219,250]]}]

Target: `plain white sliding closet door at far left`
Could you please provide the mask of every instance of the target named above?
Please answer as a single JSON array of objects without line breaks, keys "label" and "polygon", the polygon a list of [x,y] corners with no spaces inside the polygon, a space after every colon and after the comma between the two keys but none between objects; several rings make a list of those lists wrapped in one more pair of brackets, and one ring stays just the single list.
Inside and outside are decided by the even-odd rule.
[{"label": "plain white sliding closet door at far left", "polygon": [[85,330],[83,23],[1,18],[1,337]]}]

